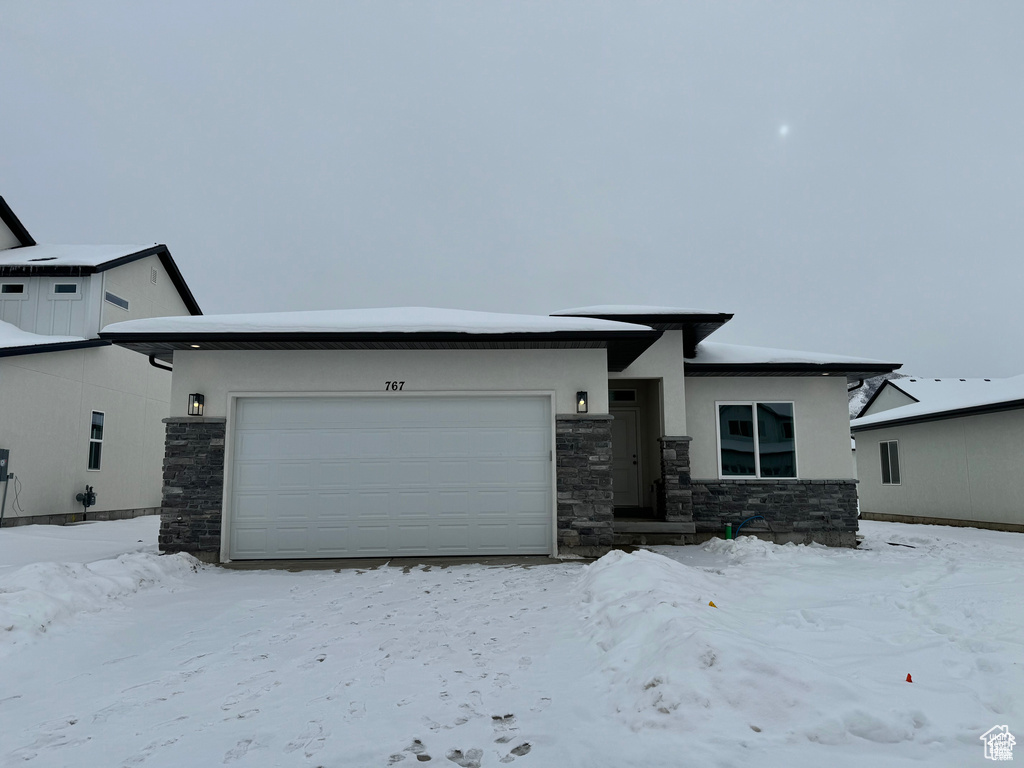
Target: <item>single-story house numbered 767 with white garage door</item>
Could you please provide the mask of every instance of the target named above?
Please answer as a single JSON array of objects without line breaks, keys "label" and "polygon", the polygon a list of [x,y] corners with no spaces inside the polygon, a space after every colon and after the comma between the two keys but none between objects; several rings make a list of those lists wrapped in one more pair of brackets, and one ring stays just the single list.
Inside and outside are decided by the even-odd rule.
[{"label": "single-story house numbered 767 with white garage door", "polygon": [[593,555],[755,515],[744,532],[852,546],[847,382],[898,366],[706,340],[731,317],[406,307],[100,338],[173,362],[165,552]]}]

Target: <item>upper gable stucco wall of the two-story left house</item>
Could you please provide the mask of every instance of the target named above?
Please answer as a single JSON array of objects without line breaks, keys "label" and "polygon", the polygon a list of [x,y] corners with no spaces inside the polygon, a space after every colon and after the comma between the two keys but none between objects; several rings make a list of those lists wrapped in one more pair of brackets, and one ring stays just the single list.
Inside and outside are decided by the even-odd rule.
[{"label": "upper gable stucco wall of the two-story left house", "polygon": [[[156,283],[153,269],[157,270]],[[122,321],[190,314],[159,256],[131,261],[97,276],[102,280],[103,294],[109,291],[128,300],[128,309],[122,309],[103,301],[101,294],[99,328]]]}]

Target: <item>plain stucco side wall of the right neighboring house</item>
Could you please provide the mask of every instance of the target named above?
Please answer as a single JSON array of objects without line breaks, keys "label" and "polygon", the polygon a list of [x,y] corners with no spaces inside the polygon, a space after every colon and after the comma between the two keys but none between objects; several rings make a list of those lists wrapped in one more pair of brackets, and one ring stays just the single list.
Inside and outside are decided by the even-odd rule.
[{"label": "plain stucco side wall of the right neighboring house", "polygon": [[[862,512],[1024,523],[1024,411],[857,432]],[[882,484],[879,443],[899,443],[899,485]]]}]

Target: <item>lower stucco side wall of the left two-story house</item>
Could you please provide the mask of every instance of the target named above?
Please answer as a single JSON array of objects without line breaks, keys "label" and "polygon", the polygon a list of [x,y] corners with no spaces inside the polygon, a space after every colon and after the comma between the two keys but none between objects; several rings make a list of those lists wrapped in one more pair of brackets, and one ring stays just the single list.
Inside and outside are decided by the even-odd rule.
[{"label": "lower stucco side wall of the left two-story house", "polygon": [[[29,516],[80,512],[75,495],[94,486],[95,511],[159,507],[170,374],[143,355],[98,347],[0,359],[0,447],[11,451]],[[102,460],[88,470],[92,412],[104,414]],[[16,516],[12,494],[6,515]]]}]

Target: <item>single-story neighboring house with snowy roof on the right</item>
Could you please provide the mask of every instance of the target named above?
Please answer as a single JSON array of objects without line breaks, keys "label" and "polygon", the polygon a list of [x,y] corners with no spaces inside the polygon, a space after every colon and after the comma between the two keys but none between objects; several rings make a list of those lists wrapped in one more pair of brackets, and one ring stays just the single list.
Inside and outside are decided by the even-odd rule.
[{"label": "single-story neighboring house with snowy roof on the right", "polygon": [[1024,376],[889,381],[851,429],[861,517],[1024,531]]}]

